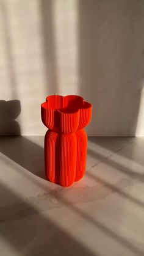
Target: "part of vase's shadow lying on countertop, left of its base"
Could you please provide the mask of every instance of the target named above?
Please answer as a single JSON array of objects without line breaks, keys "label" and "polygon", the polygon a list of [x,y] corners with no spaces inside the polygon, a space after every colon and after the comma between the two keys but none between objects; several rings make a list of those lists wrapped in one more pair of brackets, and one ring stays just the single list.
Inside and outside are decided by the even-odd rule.
[{"label": "part of vase's shadow lying on countertop, left of its base", "polygon": [[23,136],[1,137],[0,152],[34,175],[45,179],[43,147]]}]

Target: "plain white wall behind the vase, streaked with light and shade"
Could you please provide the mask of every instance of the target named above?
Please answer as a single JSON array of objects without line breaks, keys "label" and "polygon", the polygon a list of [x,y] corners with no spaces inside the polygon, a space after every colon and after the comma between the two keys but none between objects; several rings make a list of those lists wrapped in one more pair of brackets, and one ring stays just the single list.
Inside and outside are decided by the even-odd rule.
[{"label": "plain white wall behind the vase, streaked with light and shade", "polygon": [[93,104],[88,135],[144,136],[143,31],[143,0],[0,0],[0,134],[45,134],[56,93]]}]

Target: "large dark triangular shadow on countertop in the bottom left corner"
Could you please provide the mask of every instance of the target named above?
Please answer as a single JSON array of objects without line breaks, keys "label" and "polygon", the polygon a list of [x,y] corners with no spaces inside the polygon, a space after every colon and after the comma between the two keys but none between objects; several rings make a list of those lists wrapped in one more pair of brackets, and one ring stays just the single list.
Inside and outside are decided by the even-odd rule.
[{"label": "large dark triangular shadow on countertop in the bottom left corner", "polygon": [[[98,256],[43,216],[37,208],[31,205],[31,202],[22,200],[18,194],[6,188],[2,183],[0,191],[4,200],[9,197],[12,202],[18,202],[7,207],[0,207],[0,235],[7,243],[7,247],[10,246],[15,252],[25,256],[48,254],[51,256],[58,254]],[[31,219],[29,219],[30,216]]]}]

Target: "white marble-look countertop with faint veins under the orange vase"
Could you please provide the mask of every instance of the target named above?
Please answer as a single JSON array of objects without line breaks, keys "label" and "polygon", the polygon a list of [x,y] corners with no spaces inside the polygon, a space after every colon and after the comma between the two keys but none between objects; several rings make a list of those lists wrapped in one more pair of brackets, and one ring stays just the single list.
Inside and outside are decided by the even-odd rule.
[{"label": "white marble-look countertop with faint veins under the orange vase", "polygon": [[89,137],[69,188],[45,180],[43,139],[0,139],[0,255],[144,255],[144,137]]}]

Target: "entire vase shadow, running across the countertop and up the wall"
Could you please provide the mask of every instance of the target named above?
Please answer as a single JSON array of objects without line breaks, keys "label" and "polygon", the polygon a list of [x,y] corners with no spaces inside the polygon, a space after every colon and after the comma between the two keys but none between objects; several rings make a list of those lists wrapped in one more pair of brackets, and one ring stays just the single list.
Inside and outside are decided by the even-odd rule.
[{"label": "entire vase shadow, running across the countertop and up the wall", "polygon": [[0,152],[26,170],[45,178],[43,148],[20,136],[20,125],[15,120],[20,112],[20,100],[0,101],[0,134],[11,135],[1,137]]}]

